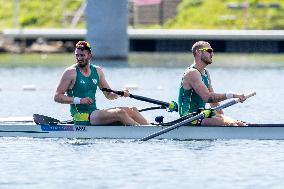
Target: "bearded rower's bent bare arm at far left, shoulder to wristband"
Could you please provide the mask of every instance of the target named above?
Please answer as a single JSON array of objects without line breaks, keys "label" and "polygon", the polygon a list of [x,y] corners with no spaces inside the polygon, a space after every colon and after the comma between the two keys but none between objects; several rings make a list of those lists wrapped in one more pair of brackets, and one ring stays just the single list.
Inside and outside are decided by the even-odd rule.
[{"label": "bearded rower's bent bare arm at far left, shoulder to wristband", "polygon": [[55,102],[62,104],[73,104],[74,98],[67,96],[66,92],[70,88],[72,82],[74,82],[74,74],[74,70],[66,69],[64,71],[54,95]]}]

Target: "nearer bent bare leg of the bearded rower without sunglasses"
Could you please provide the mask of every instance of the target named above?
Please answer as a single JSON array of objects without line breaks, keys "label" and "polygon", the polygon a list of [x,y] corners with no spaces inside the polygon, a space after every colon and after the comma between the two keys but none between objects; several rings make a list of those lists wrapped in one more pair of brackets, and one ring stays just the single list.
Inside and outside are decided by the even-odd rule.
[{"label": "nearer bent bare leg of the bearded rower without sunglasses", "polygon": [[139,125],[125,110],[120,108],[96,110],[91,113],[90,122],[92,125],[107,125],[115,122],[121,122],[123,125]]}]

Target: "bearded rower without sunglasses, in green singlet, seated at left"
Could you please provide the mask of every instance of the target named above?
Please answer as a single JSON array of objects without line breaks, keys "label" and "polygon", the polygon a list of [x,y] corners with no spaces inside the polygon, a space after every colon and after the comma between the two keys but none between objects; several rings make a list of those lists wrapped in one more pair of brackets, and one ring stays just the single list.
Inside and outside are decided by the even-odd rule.
[{"label": "bearded rower without sunglasses, in green singlet, seated at left", "polygon": [[[70,112],[75,124],[108,125],[119,122],[123,125],[147,125],[148,121],[137,108],[116,107],[97,109],[96,90],[110,86],[105,79],[102,68],[90,64],[91,46],[86,41],[79,41],[75,49],[76,64],[65,69],[57,86],[54,100],[62,104],[70,104]],[[111,92],[103,92],[109,100],[119,96]],[[124,97],[128,97],[124,90]]]}]

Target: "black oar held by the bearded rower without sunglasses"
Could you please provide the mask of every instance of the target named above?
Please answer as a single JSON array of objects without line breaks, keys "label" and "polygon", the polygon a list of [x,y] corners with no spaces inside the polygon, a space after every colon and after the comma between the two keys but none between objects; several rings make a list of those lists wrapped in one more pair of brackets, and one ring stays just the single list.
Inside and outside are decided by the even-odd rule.
[{"label": "black oar held by the bearded rower without sunglasses", "polygon": [[[107,88],[102,88],[101,90],[105,91],[105,92],[112,92],[112,93],[115,93],[115,94],[120,95],[120,96],[124,95],[123,91],[115,91],[115,90],[107,89]],[[171,111],[171,112],[172,111],[176,111],[176,112],[178,111],[178,105],[174,101],[163,102],[163,101],[160,101],[160,100],[155,100],[155,99],[152,99],[152,98],[139,96],[139,95],[133,95],[133,94],[130,94],[129,97],[130,98],[134,98],[136,100],[141,100],[141,101],[144,101],[144,102],[149,102],[149,103],[152,103],[152,104],[157,104],[157,105],[164,106],[164,107],[168,108],[169,111]]]}]

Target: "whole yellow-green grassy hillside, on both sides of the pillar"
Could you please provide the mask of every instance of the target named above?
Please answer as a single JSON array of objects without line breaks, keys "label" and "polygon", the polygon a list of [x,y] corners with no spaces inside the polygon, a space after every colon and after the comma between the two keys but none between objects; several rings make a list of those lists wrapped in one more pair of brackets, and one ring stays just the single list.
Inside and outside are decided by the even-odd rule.
[{"label": "whole yellow-green grassy hillside, on both sides of the pillar", "polygon": [[[84,0],[0,0],[0,30],[4,28],[68,28]],[[284,1],[183,0],[178,15],[161,28],[284,29]],[[14,11],[15,10],[15,11]],[[18,15],[18,16],[17,16]],[[84,21],[77,28],[85,27]],[[149,28],[149,26],[139,26]],[[153,26],[157,27],[157,26]]]}]

